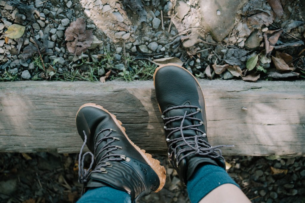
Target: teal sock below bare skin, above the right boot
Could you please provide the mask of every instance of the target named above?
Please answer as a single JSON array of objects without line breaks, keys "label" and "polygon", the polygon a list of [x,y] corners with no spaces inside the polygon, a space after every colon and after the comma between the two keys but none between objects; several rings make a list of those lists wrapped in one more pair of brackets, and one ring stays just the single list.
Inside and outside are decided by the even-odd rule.
[{"label": "teal sock below bare skin, above the right boot", "polygon": [[222,167],[208,164],[197,167],[186,187],[191,202],[198,203],[210,191],[227,183],[239,187]]}]

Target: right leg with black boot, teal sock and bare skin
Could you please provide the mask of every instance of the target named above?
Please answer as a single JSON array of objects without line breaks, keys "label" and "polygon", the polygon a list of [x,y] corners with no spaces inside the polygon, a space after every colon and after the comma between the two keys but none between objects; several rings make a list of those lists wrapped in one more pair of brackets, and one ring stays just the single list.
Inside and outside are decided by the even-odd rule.
[{"label": "right leg with black boot, teal sock and bare skin", "polygon": [[167,64],[156,69],[154,86],[168,157],[187,186],[191,202],[209,202],[211,198],[223,202],[215,195],[235,196],[231,202],[249,202],[225,171],[219,148],[230,145],[212,147],[208,142],[205,102],[196,78],[181,66]]}]

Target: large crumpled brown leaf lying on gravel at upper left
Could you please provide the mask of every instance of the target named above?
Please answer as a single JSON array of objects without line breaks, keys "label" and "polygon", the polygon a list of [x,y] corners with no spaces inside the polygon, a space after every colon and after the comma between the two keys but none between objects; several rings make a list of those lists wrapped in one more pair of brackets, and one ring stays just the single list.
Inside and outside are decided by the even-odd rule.
[{"label": "large crumpled brown leaf lying on gravel at upper left", "polygon": [[70,53],[81,55],[85,52],[92,43],[92,30],[86,30],[85,19],[77,18],[76,21],[70,23],[70,26],[65,31],[68,41],[66,46]]}]

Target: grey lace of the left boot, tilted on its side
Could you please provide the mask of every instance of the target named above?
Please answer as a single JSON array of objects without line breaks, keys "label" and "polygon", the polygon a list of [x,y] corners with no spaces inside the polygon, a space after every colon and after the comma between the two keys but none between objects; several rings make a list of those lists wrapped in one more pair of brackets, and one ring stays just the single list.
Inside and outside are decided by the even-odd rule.
[{"label": "grey lace of the left boot, tilted on its side", "polygon": [[[102,137],[101,139],[99,139],[97,141],[98,136],[104,131],[109,131],[109,132],[104,137]],[[87,135],[86,135],[85,131],[83,131],[85,138],[84,138],[84,143],[81,146],[81,150],[80,150],[80,153],[79,153],[79,156],[78,156],[78,182],[79,183],[88,182],[88,179],[89,179],[91,173],[94,173],[94,172],[107,173],[106,169],[104,167],[112,166],[111,163],[110,163],[111,161],[122,161],[122,160],[129,159],[125,155],[122,155],[122,154],[109,154],[110,152],[113,152],[117,149],[122,149],[122,147],[120,147],[120,146],[111,145],[113,142],[115,142],[117,140],[120,140],[120,138],[110,136],[110,134],[112,132],[116,132],[116,131],[111,129],[111,128],[106,128],[106,129],[100,130],[97,133],[97,135],[95,136],[95,146],[94,146],[95,157],[98,157],[104,150],[107,150],[107,151],[101,156],[101,158],[100,158],[99,162],[97,163],[95,169],[91,171],[93,163],[94,163],[94,155],[93,155],[92,152],[86,152],[86,153],[84,153],[84,155],[82,155],[84,146],[86,145],[86,142],[87,142]],[[108,139],[112,139],[112,140],[107,142],[107,144],[104,145],[99,150],[99,152],[97,152],[97,148],[98,148],[99,144],[102,143],[103,141],[107,141]],[[84,159],[85,159],[86,155],[91,156],[91,163],[90,163],[90,166],[87,170],[84,169]]]}]

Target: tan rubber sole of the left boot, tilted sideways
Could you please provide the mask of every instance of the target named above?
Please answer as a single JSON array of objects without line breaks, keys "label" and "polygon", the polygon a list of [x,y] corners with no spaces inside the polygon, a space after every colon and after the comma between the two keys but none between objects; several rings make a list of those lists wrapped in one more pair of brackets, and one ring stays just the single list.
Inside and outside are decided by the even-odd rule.
[{"label": "tan rubber sole of the left boot, tilted sideways", "polygon": [[126,135],[125,128],[122,126],[122,122],[117,120],[117,117],[115,115],[111,114],[108,110],[104,109],[102,106],[97,105],[95,103],[85,103],[84,105],[82,105],[79,108],[79,110],[77,111],[77,114],[84,107],[95,107],[95,108],[102,109],[103,111],[106,111],[112,117],[114,122],[117,124],[117,126],[120,128],[120,130],[124,133],[127,140],[131,143],[131,145],[133,145],[135,147],[135,149],[138,150],[138,152],[142,155],[142,157],[145,159],[145,161],[152,167],[152,169],[158,175],[159,180],[160,180],[160,186],[155,192],[159,192],[163,188],[163,186],[165,184],[165,179],[166,179],[166,171],[165,171],[164,166],[160,165],[160,161],[152,158],[151,154],[146,153],[144,149],[140,149],[137,145],[135,145],[135,143],[133,143]]}]

